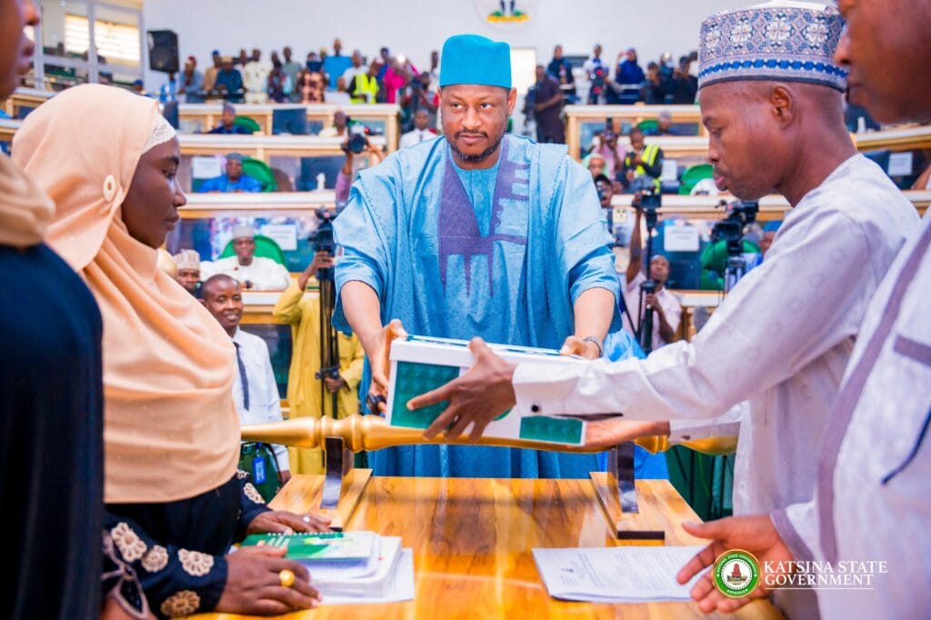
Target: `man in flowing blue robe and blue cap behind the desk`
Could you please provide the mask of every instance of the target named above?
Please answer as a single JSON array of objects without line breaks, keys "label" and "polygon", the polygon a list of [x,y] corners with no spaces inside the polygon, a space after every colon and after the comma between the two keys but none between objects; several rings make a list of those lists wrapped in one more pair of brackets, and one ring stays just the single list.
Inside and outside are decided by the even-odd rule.
[{"label": "man in flowing blue robe and blue cap behind the desk", "polygon": [[[515,101],[506,44],[453,36],[443,62],[444,137],[360,172],[334,222],[344,251],[334,325],[358,334],[376,379],[393,319],[412,334],[502,344],[560,348],[574,335],[586,344],[574,353],[599,357],[619,327],[619,289],[590,173],[564,146],[505,134]],[[383,476],[598,469],[594,454],[479,446],[403,446],[370,460]]]}]

